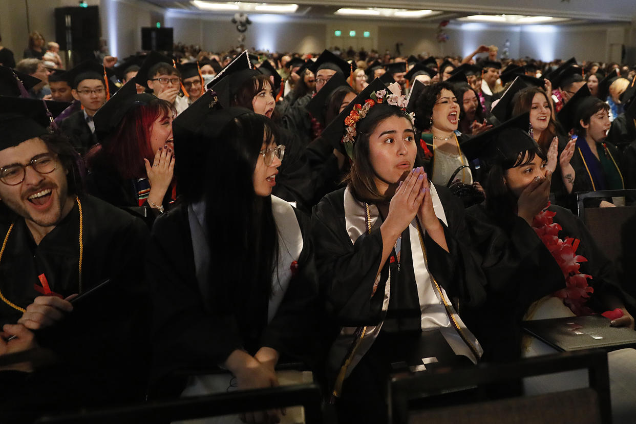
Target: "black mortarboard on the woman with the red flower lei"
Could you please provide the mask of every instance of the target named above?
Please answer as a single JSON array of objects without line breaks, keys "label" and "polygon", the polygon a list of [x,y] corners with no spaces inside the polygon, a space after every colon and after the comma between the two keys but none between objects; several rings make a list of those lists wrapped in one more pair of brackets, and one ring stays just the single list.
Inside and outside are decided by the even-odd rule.
[{"label": "black mortarboard on the woman with the red flower lei", "polygon": [[462,144],[468,160],[480,158],[487,163],[513,159],[519,153],[539,147],[530,136],[530,113],[522,113],[497,127],[475,135]]}]

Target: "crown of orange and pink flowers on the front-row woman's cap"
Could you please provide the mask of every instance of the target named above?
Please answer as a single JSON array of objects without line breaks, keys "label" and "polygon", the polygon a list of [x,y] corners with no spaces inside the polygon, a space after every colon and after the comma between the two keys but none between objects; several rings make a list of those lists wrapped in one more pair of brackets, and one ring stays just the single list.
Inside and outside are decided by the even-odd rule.
[{"label": "crown of orange and pink flowers on the front-row woman's cap", "polygon": [[[390,92],[388,95],[387,89]],[[345,135],[342,137],[342,144],[344,144],[345,151],[347,151],[350,158],[353,158],[354,143],[356,142],[357,136],[357,123],[366,117],[371,110],[371,107],[387,102],[387,104],[391,106],[398,106],[402,109],[402,111],[406,112],[408,99],[401,93],[399,84],[392,83],[387,89],[371,92],[369,99],[364,100],[364,104],[354,104],[349,116],[345,118],[345,125],[347,128],[345,128]],[[411,118],[411,123],[415,125],[415,113],[411,112],[408,116]]]}]

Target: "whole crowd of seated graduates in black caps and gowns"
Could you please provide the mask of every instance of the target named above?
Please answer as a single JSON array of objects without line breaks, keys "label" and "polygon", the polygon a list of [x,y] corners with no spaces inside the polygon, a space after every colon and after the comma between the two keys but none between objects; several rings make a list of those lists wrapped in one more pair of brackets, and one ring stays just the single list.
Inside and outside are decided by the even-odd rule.
[{"label": "whole crowd of seated graduates in black caps and gowns", "polygon": [[[576,193],[636,188],[636,67],[181,44],[59,65],[0,65],[3,422],[311,371],[330,419],[385,423],[396,364],[550,352],[524,320],[634,328]],[[630,422],[636,352],[612,353]],[[543,389],[495,392],[520,390]]]}]

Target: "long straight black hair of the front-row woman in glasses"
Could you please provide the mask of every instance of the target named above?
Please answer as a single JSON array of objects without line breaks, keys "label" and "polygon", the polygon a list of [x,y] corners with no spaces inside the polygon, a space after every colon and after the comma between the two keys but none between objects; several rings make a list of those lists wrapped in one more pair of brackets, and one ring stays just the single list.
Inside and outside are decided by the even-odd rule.
[{"label": "long straight black hair of the front-row woman in glasses", "polygon": [[215,137],[203,182],[211,304],[235,315],[249,339],[258,338],[254,323],[265,322],[279,250],[272,199],[254,193],[252,175],[263,140],[276,139],[266,116],[237,116]]}]

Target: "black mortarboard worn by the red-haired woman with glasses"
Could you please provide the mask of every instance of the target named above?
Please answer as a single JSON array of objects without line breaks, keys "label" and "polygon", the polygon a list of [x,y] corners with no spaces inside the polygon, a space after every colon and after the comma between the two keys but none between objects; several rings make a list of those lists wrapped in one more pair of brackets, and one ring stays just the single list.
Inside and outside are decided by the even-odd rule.
[{"label": "black mortarboard worn by the red-haired woman with glasses", "polygon": [[102,107],[95,112],[95,134],[100,142],[104,142],[107,136],[119,127],[120,122],[130,109],[137,105],[146,105],[156,99],[152,94],[137,94],[134,79],[125,83]]}]

